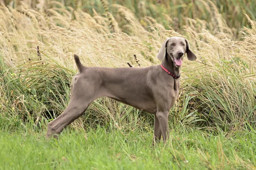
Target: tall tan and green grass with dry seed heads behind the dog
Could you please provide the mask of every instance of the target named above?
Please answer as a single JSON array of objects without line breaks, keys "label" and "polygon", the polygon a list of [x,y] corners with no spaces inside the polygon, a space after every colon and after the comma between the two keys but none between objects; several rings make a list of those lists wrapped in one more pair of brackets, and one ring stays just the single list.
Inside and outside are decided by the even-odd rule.
[{"label": "tall tan and green grass with dry seed heads behind the dog", "polygon": [[[224,131],[255,128],[256,28],[247,14],[243,16],[250,26],[234,30],[215,3],[200,1],[211,13],[209,20],[179,15],[186,22],[176,26],[178,18],[164,12],[162,22],[147,16],[143,1],[140,14],[105,0],[91,2],[104,8],[90,4],[89,14],[79,3],[72,8],[57,1],[47,1],[47,9],[38,11],[24,2],[16,8],[0,6],[1,127],[45,127],[64,111],[76,74],[73,54],[86,66],[103,67],[129,67],[127,62],[136,66],[136,55],[144,67],[160,63],[156,54],[166,37],[182,36],[189,39],[198,59],[184,61],[180,98],[170,114],[172,125]],[[167,11],[170,6],[154,9],[159,8]],[[102,98],[73,126],[145,129],[152,120],[151,115]]]}]

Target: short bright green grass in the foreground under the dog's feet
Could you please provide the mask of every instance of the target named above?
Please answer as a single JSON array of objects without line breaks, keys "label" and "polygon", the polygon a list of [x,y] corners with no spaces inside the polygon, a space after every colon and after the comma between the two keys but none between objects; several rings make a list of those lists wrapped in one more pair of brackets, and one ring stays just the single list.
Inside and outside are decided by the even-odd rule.
[{"label": "short bright green grass in the foreground under the dog's feet", "polygon": [[[71,133],[70,133],[71,131]],[[153,130],[65,130],[59,140],[44,132],[0,132],[0,169],[255,169],[256,133],[212,135],[171,130],[171,140],[152,147]]]}]

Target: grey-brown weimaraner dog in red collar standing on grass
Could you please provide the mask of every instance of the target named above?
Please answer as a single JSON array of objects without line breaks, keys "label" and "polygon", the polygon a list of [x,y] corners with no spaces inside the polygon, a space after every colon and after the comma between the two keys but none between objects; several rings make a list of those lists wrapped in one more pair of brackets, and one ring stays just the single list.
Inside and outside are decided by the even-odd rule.
[{"label": "grey-brown weimaraner dog in red collar standing on grass", "polygon": [[93,100],[107,96],[134,108],[154,114],[154,140],[169,138],[168,115],[180,89],[180,66],[184,54],[195,60],[188,40],[182,37],[166,38],[157,58],[160,65],[144,68],[85,67],[74,55],[79,73],[71,82],[71,99],[66,110],[47,127],[47,139],[79,118]]}]

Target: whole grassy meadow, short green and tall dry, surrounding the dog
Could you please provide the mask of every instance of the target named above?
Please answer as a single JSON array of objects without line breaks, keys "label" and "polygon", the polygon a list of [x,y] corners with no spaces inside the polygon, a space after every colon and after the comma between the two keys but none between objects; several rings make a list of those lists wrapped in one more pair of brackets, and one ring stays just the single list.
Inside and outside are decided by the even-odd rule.
[{"label": "whole grassy meadow, short green and tall dry, surrounding the dog", "polygon": [[[0,4],[0,169],[256,169],[254,0]],[[172,36],[197,60],[184,59],[166,144],[151,146],[153,115],[108,98],[46,142],[70,99],[73,54],[145,67]]]}]

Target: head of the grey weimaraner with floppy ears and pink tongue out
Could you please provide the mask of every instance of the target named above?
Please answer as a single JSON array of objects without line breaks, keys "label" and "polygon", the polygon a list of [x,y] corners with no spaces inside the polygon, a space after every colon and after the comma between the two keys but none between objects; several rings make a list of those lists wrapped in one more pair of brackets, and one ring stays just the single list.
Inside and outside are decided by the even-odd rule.
[{"label": "head of the grey weimaraner with floppy ears and pink tongue out", "polygon": [[[157,58],[160,60],[168,57],[172,59],[175,67],[180,67],[183,61],[183,57],[187,54],[189,60],[196,59],[195,54],[189,49],[189,41],[182,37],[166,38],[161,46]],[[166,55],[167,54],[167,55]]]}]

